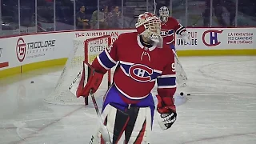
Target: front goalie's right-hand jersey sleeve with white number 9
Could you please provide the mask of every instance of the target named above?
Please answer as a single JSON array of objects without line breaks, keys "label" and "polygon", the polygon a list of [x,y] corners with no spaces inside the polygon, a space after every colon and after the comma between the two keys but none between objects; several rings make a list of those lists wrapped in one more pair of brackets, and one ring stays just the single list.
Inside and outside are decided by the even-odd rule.
[{"label": "front goalie's right-hand jersey sleeve with white number 9", "polygon": [[[170,57],[169,57],[170,58]],[[176,72],[174,54],[170,58],[170,61],[166,64],[162,74],[157,78],[158,82],[158,94],[161,97],[173,98],[176,91]]]}]

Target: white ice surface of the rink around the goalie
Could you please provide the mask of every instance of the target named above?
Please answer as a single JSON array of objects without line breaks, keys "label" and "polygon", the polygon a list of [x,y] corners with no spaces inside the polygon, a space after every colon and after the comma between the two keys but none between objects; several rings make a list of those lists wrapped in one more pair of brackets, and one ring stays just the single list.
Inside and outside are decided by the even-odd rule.
[{"label": "white ice surface of the rink around the goalie", "polygon": [[[170,130],[154,122],[153,144],[255,144],[256,57],[180,58],[186,103]],[[0,79],[1,144],[84,144],[97,128],[94,106],[43,102],[63,66]],[[31,83],[33,81],[34,83]],[[97,94],[101,106],[104,90]]]}]

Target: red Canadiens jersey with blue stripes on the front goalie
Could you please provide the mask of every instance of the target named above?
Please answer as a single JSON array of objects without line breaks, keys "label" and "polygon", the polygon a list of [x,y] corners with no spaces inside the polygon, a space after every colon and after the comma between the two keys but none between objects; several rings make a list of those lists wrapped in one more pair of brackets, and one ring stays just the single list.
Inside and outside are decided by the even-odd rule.
[{"label": "red Canadiens jersey with blue stripes on the front goalie", "polygon": [[155,82],[158,83],[158,94],[161,96],[173,97],[176,91],[174,53],[168,45],[146,48],[138,33],[121,34],[92,63],[94,69],[103,74],[116,65],[114,86],[126,98],[146,98]]}]

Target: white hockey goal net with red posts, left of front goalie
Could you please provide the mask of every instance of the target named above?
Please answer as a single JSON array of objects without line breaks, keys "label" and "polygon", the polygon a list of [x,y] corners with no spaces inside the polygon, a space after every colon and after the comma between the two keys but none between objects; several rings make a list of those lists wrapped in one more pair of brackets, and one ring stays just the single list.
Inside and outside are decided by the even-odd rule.
[{"label": "white hockey goal net with red posts, left of front goalie", "polygon": [[[83,61],[90,64],[94,58],[98,56],[103,50],[110,46],[111,37],[109,35],[96,37],[96,38],[74,38],[73,49],[70,51],[69,58],[66,65],[62,70],[61,76],[58,78],[57,85],[48,98],[44,99],[45,102],[58,105],[88,105],[88,98],[77,98],[69,90],[70,84],[77,77],[80,70],[82,70]],[[86,80],[89,74],[89,67],[86,67]],[[98,90],[106,90],[111,83],[111,71],[108,70],[107,74],[102,79],[102,84]]]}]

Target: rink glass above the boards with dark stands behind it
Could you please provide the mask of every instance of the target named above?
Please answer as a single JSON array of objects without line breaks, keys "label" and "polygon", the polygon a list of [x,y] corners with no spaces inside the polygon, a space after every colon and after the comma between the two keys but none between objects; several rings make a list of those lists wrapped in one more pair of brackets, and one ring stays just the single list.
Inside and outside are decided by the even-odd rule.
[{"label": "rink glass above the boards with dark stands behind it", "polygon": [[[256,26],[256,2],[250,0],[157,2],[156,14],[161,6],[167,6],[183,26]],[[134,28],[138,14],[154,13],[154,0],[0,0],[0,6],[0,36],[77,30],[81,6],[89,20],[86,30]],[[108,10],[102,11],[106,6]]]}]

